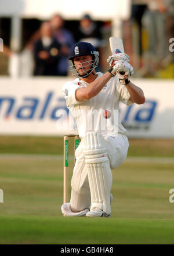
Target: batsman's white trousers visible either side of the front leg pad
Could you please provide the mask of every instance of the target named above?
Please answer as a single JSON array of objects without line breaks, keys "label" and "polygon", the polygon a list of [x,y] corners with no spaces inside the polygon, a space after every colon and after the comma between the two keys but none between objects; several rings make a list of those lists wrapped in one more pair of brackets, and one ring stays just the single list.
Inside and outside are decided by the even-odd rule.
[{"label": "batsman's white trousers visible either side of the front leg pad", "polygon": [[[107,147],[107,157],[110,161],[111,170],[119,167],[128,153],[129,142],[125,135],[106,136],[104,138]],[[88,183],[88,170],[85,167],[85,157],[82,153],[82,142],[75,150],[76,162],[71,179],[71,209],[72,211],[82,211],[90,206],[90,189]]]}]

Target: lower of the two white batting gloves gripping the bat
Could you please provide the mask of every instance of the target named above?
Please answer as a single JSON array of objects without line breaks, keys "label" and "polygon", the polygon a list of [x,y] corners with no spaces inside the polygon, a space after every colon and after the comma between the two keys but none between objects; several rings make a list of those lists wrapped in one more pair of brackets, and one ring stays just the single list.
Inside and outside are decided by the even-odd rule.
[{"label": "lower of the two white batting gloves gripping the bat", "polygon": [[133,67],[128,62],[118,60],[115,62],[115,65],[108,70],[108,72],[110,72],[113,77],[117,74],[119,82],[125,85],[130,82],[128,77],[133,75]]}]

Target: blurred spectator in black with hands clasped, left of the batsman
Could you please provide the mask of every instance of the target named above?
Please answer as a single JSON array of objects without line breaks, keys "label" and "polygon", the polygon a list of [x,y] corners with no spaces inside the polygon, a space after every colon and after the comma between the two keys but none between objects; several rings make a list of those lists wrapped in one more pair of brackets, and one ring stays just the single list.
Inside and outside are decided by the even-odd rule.
[{"label": "blurred spectator in black with hands clasped, left of the batsman", "polygon": [[40,33],[41,38],[34,44],[34,75],[57,75],[60,44],[53,37],[48,21],[42,23]]}]

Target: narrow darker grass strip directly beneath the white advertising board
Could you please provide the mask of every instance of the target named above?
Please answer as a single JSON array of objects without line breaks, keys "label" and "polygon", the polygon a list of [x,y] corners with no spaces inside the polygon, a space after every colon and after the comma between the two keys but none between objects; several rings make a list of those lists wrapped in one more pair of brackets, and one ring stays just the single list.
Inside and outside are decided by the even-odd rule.
[{"label": "narrow darker grass strip directly beneath the white advertising board", "polygon": [[[129,145],[128,156],[174,156],[174,139],[129,139]],[[70,154],[73,150],[73,138],[70,138]],[[63,138],[0,136],[1,153],[63,154]]]}]

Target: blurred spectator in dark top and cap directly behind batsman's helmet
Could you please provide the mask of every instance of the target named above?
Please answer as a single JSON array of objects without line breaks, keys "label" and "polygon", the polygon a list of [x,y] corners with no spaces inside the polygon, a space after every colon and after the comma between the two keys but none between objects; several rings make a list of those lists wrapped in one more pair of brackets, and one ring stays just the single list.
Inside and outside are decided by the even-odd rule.
[{"label": "blurred spectator in dark top and cap directly behind batsman's helmet", "polygon": [[79,21],[79,27],[75,31],[75,41],[89,42],[96,48],[96,51],[98,51],[100,55],[99,68],[101,71],[103,71],[103,67],[105,66],[104,61],[106,62],[106,60],[103,60],[102,39],[102,32],[97,27],[96,23],[92,21],[88,14],[84,15]]}]

